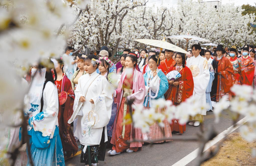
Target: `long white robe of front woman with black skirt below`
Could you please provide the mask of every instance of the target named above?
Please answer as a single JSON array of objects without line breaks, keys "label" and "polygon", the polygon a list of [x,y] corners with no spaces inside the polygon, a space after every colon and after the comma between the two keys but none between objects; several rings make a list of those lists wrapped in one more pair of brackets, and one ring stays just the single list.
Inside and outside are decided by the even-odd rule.
[{"label": "long white robe of front woman with black skirt below", "polygon": [[[79,101],[81,96],[85,97],[85,102]],[[91,99],[94,101],[94,104],[89,102]],[[91,74],[82,75],[79,78],[75,89],[74,112],[68,123],[71,124],[75,118],[78,118],[74,136],[79,139],[82,145],[99,145],[103,127],[105,127],[105,142],[107,141],[106,126],[111,117],[112,103],[112,91],[104,76],[99,75],[95,71]],[[88,112],[91,110],[97,112],[99,121],[89,127],[87,123]]]}]

